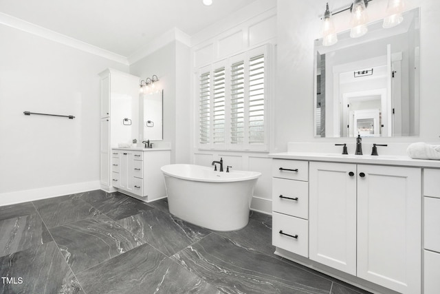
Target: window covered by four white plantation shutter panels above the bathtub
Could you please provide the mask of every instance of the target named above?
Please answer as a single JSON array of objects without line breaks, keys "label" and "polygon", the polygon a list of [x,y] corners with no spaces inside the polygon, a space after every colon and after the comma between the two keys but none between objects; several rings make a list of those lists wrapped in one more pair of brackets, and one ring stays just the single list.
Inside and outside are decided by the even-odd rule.
[{"label": "window covered by four white plantation shutter panels above the bathtub", "polygon": [[199,148],[267,150],[267,45],[199,70]]}]

